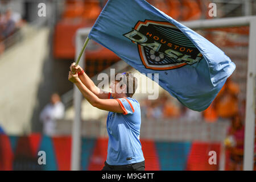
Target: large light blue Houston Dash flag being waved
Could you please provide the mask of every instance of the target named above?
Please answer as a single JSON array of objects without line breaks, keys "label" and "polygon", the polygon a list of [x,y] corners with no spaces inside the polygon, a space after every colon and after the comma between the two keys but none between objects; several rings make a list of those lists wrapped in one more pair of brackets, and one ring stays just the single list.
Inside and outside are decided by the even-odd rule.
[{"label": "large light blue Houston Dash flag being waved", "polygon": [[159,85],[196,111],[207,109],[236,68],[221,49],[143,0],[109,0],[89,38],[139,72],[159,73]]}]

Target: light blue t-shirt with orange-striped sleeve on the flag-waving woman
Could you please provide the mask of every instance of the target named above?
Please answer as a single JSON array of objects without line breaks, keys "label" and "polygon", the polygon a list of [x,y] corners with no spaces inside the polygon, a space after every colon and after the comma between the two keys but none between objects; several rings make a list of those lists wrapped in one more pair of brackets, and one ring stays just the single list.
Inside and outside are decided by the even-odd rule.
[{"label": "light blue t-shirt with orange-striped sleeve on the flag-waving woman", "polygon": [[[110,96],[110,98],[113,98]],[[141,130],[141,108],[139,102],[130,97],[116,99],[123,113],[109,112],[106,127],[109,135],[109,165],[126,165],[144,160],[139,133]]]}]

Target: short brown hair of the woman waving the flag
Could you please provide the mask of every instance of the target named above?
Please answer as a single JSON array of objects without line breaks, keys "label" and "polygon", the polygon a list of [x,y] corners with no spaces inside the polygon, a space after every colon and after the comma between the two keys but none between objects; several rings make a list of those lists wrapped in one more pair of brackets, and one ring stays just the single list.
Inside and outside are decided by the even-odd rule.
[{"label": "short brown hair of the woman waving the flag", "polygon": [[[119,76],[120,74],[122,75],[121,77]],[[126,85],[126,95],[128,97],[133,97],[133,94],[137,89],[137,78],[134,77],[133,73],[115,73],[115,81],[121,82],[122,85]]]}]

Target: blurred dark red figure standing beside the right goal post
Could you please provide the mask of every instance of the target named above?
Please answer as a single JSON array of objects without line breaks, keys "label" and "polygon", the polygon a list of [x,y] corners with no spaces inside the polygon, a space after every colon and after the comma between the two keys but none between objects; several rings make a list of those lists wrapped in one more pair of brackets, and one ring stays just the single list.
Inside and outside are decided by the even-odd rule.
[{"label": "blurred dark red figure standing beside the right goal post", "polygon": [[232,124],[228,129],[228,137],[224,141],[227,150],[230,152],[229,169],[232,171],[242,170],[244,137],[245,127],[240,115],[236,114],[232,118]]}]

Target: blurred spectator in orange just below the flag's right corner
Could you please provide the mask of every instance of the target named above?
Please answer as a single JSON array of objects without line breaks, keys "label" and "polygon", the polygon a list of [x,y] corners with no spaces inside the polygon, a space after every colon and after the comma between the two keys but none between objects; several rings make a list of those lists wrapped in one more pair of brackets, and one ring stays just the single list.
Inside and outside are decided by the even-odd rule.
[{"label": "blurred spectator in orange just below the flag's right corner", "polygon": [[232,118],[238,113],[239,92],[239,86],[228,78],[214,101],[218,117]]}]

